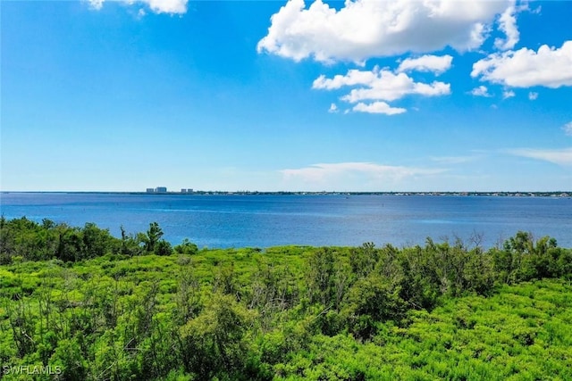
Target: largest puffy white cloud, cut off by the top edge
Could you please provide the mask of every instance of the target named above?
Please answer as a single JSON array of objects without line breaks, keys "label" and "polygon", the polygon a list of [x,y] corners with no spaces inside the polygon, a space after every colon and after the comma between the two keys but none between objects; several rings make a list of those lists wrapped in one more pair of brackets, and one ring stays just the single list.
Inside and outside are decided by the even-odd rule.
[{"label": "largest puffy white cloud, cut off by the top edge", "polygon": [[[476,49],[486,39],[495,18],[514,41],[516,24],[510,19],[515,0],[355,0],[340,10],[315,0],[290,0],[273,14],[268,34],[257,45],[295,61],[365,62],[374,56],[426,53],[451,46]],[[509,13],[507,13],[509,12]]]}]

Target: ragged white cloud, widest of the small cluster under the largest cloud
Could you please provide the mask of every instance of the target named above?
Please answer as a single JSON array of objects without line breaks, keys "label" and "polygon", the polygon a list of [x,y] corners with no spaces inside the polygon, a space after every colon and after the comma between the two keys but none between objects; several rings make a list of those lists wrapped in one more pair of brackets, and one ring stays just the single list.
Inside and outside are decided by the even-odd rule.
[{"label": "ragged white cloud, widest of the small cluster under the largest cloud", "polygon": [[433,81],[431,84],[415,82],[406,73],[393,73],[390,70],[371,71],[349,70],[345,76],[336,75],[332,79],[320,76],[312,88],[333,90],[341,87],[363,86],[352,89],[341,100],[355,104],[365,100],[394,101],[406,95],[449,95],[450,84]]}]

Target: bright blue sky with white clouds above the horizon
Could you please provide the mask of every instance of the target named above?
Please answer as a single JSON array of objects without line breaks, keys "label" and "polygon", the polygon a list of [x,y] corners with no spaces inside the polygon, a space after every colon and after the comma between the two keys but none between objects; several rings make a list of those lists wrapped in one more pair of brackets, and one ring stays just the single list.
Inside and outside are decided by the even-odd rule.
[{"label": "bright blue sky with white clouds above the horizon", "polygon": [[6,1],[3,191],[572,189],[572,2]]}]

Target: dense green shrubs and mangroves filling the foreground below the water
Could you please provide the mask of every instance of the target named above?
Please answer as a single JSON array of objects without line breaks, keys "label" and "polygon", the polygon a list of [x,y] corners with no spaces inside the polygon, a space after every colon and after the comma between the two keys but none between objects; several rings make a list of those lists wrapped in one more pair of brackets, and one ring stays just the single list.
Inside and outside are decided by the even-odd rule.
[{"label": "dense green shrubs and mangroves filling the foreground below the water", "polygon": [[484,251],[162,236],[0,219],[4,379],[572,379],[572,250],[549,237]]}]

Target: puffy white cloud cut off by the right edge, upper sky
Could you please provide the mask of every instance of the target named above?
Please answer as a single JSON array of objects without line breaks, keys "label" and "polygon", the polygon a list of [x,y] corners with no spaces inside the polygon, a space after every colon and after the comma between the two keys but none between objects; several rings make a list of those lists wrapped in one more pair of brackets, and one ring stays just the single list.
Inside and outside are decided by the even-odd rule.
[{"label": "puffy white cloud cut off by the right edge, upper sky", "polygon": [[473,64],[472,77],[508,87],[572,86],[572,41],[561,47],[541,46],[490,54]]}]

